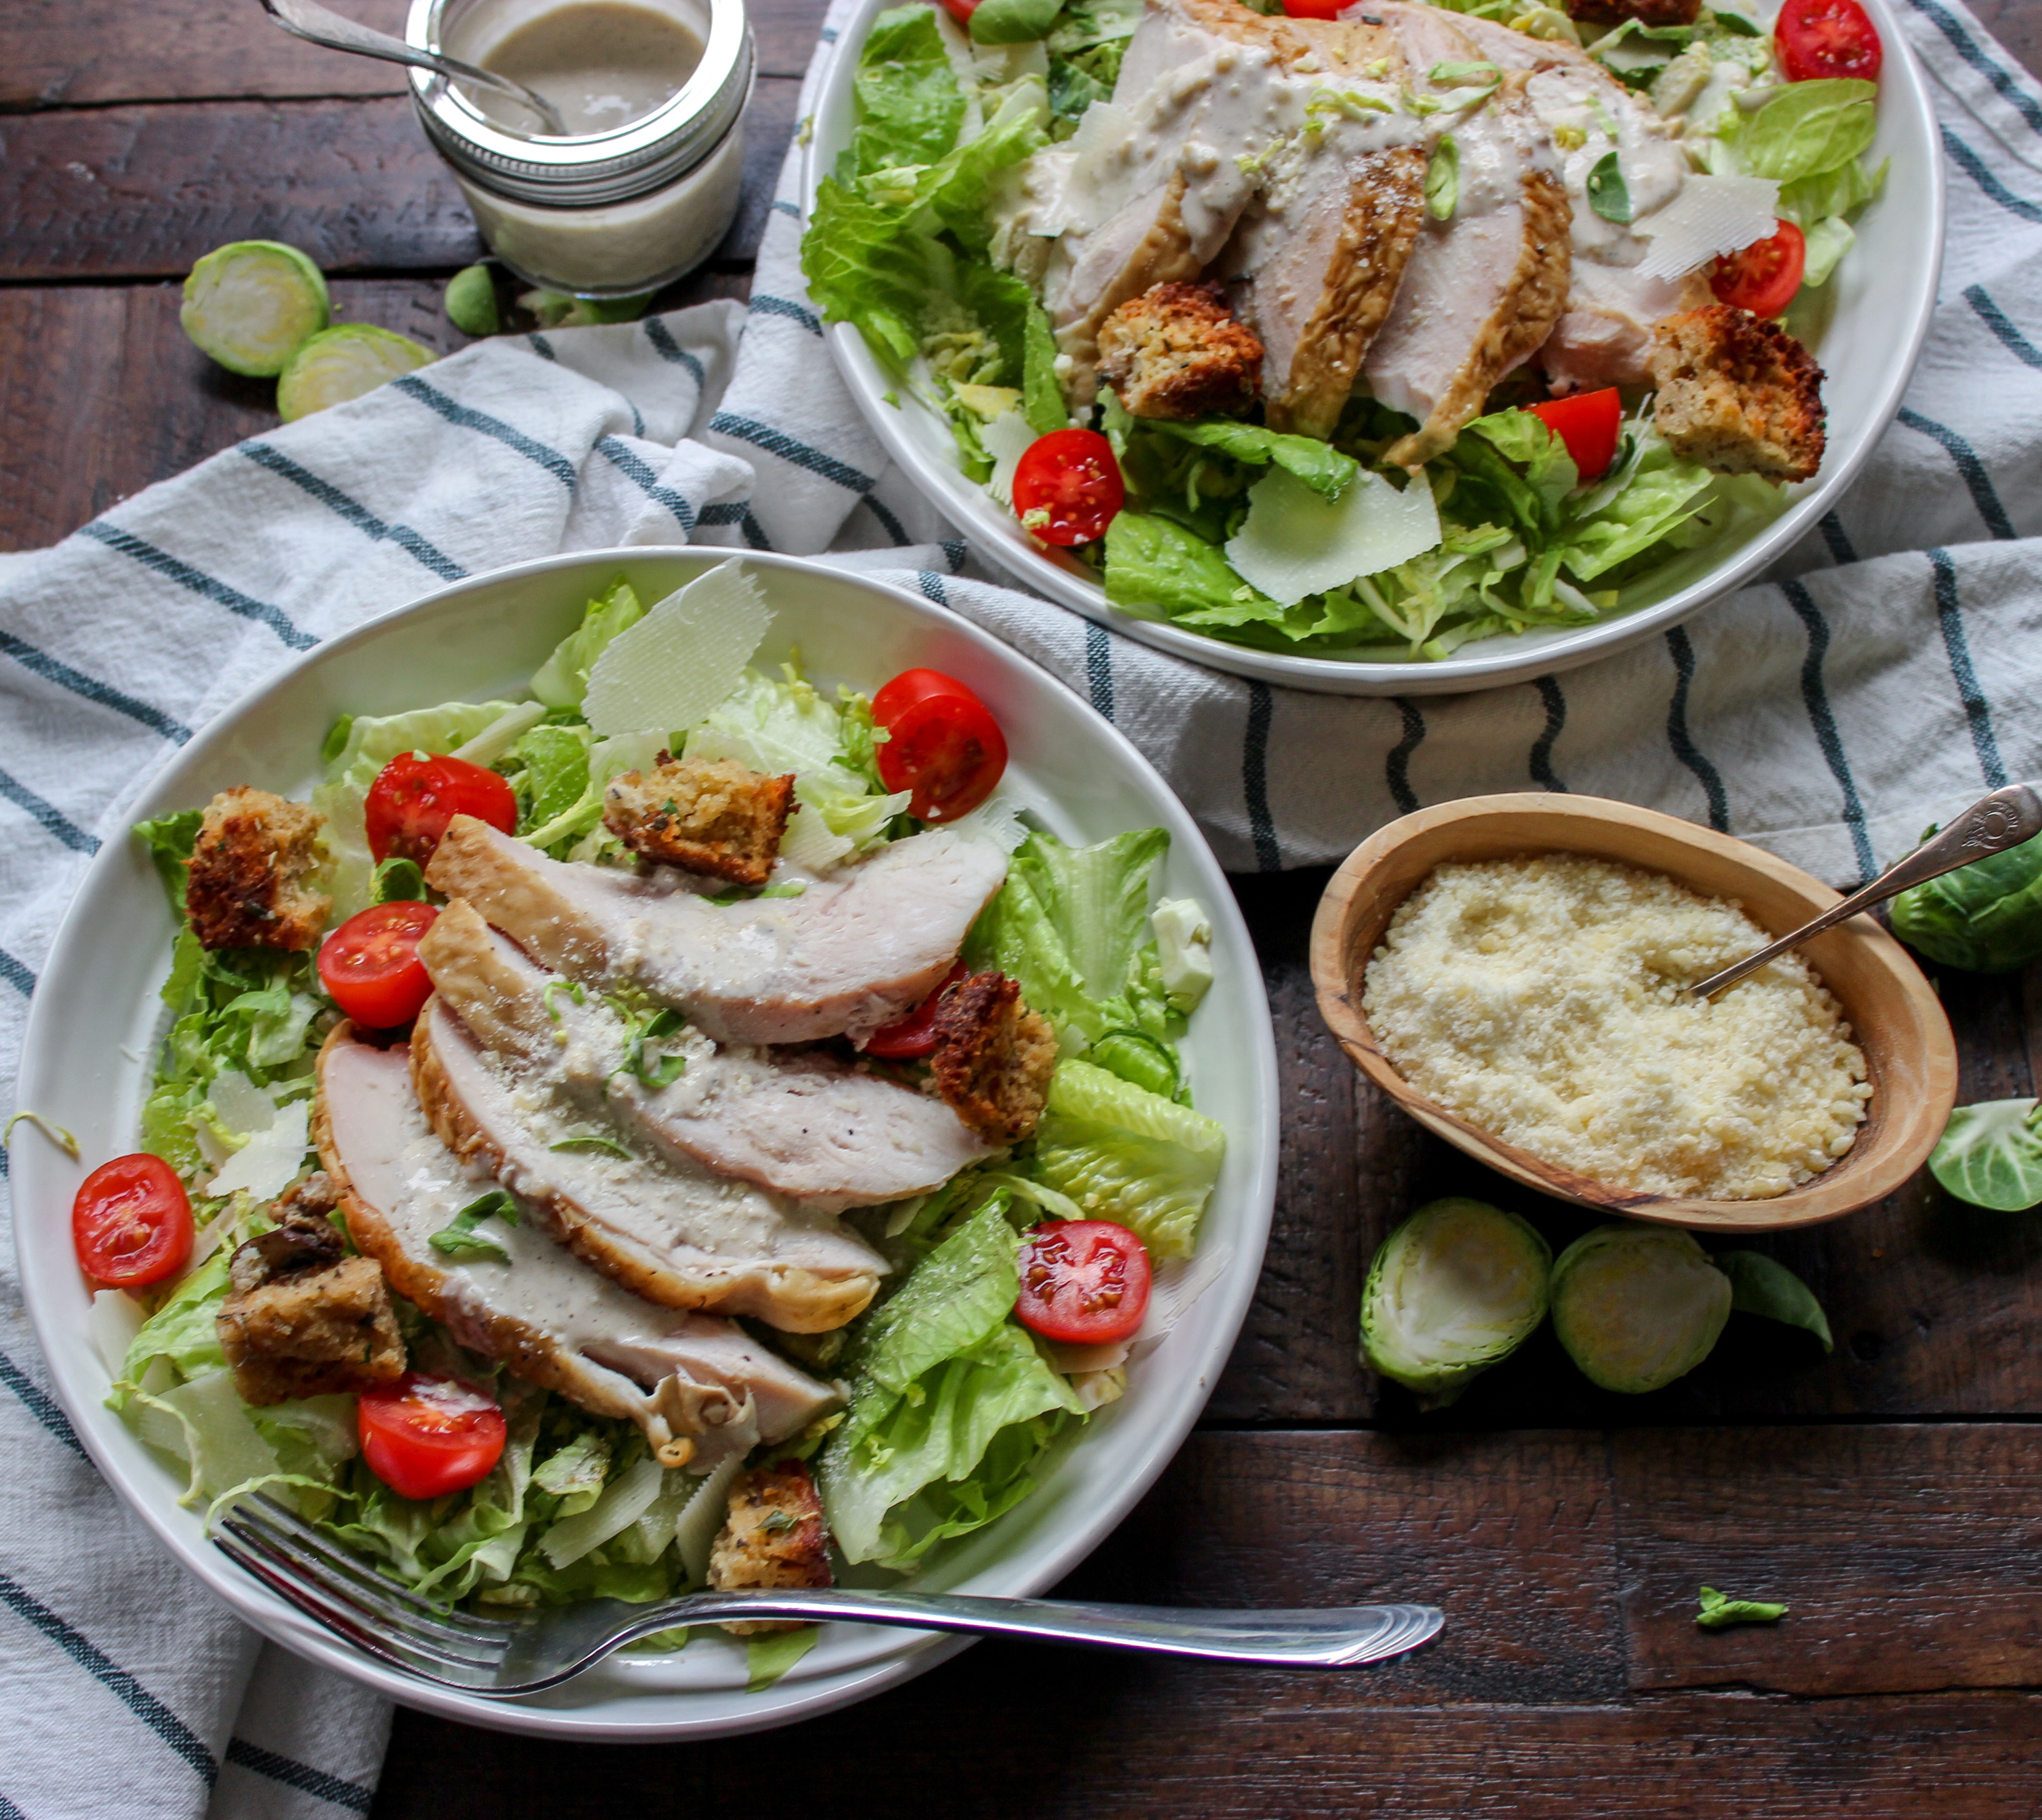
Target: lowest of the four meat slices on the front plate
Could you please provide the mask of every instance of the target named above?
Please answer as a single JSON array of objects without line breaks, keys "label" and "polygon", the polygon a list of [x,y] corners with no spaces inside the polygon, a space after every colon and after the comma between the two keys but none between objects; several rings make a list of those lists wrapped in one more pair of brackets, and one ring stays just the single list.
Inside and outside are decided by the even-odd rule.
[{"label": "lowest of the four meat slices on the front plate", "polygon": [[312,1132],[355,1246],[455,1340],[596,1416],[635,1422],[670,1467],[709,1471],[837,1403],[735,1322],[653,1307],[529,1224],[488,1224],[508,1264],[433,1250],[486,1183],[433,1136],[408,1076],[402,1048],[357,1042],[343,1023],[319,1054]]}]

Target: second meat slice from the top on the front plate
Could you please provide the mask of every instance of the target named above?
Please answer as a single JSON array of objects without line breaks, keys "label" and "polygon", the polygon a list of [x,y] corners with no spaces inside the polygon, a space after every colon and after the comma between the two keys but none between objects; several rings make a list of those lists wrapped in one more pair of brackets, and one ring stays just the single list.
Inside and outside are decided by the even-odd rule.
[{"label": "second meat slice from the top on the front plate", "polygon": [[684,1064],[680,1076],[649,1085],[660,1068],[629,1066],[633,1029],[611,1005],[592,993],[576,1003],[461,899],[441,911],[419,958],[439,1003],[525,1079],[551,1083],[668,1156],[811,1211],[923,1195],[992,1154],[943,1101],[827,1054],[719,1048],[680,1032],[653,1046]]}]

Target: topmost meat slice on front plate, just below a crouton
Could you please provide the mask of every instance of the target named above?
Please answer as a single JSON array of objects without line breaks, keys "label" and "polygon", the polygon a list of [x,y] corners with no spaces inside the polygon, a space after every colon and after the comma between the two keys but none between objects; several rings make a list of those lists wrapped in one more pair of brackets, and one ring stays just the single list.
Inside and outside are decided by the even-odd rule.
[{"label": "topmost meat slice on front plate, just below a crouton", "polygon": [[539,964],[572,980],[637,985],[717,1042],[870,1036],[950,972],[1007,878],[990,842],[933,827],[809,884],[800,897],[719,905],[649,878],[570,866],[455,815],[427,882],[466,897]]}]

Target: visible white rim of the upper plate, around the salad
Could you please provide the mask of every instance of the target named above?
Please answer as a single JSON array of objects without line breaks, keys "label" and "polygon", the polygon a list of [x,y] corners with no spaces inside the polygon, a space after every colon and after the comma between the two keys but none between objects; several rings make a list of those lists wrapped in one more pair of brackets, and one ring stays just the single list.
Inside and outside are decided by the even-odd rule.
[{"label": "visible white rim of the upper plate, around the salad", "polygon": [[[815,186],[829,176],[837,153],[849,145],[858,51],[874,14],[898,0],[864,0],[843,31],[815,110],[803,206],[813,214]],[[1623,609],[1595,625],[1546,627],[1462,645],[1438,664],[1356,662],[1256,652],[1178,625],[1133,619],[1107,605],[1105,588],[1076,558],[1037,543],[1007,507],[958,468],[958,445],[947,419],[905,394],[901,406],[884,400],[898,392],[852,323],[831,323],[823,333],[837,370],[886,453],[970,539],[986,562],[1021,586],[1111,625],[1160,652],[1211,664],[1237,676],[1260,676],[1323,695],[1454,695],[1499,688],[1556,670],[1572,670],[1648,639],[1699,613],[1719,594],[1748,582],[1772,558],[1815,529],[1815,521],[1842,496],[1866,464],[1885,427],[1899,411],[1913,374],[1942,274],[1942,151],[1936,114],[1922,67],[1887,0],[1866,0],[1885,39],[1879,80],[1879,137],[1873,159],[1891,157],[1885,194],[1858,221],[1858,243],[1836,276],[1811,292],[1793,327],[1828,370],[1824,400],[1830,406],[1830,447],[1821,472],[1791,488],[1793,505],[1742,537],[1685,552],[1648,580],[1630,588]]]}]

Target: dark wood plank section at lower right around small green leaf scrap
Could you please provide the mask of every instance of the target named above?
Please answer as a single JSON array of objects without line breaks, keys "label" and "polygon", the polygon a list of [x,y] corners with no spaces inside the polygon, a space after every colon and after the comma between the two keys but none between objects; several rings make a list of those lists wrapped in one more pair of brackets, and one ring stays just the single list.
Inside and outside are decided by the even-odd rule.
[{"label": "dark wood plank section at lower right around small green leaf scrap", "polygon": [[[2042,1685],[2042,1430],[1638,1430],[1611,1444],[1632,1685]],[[1783,1599],[1701,1630],[1697,1589]]]}]

